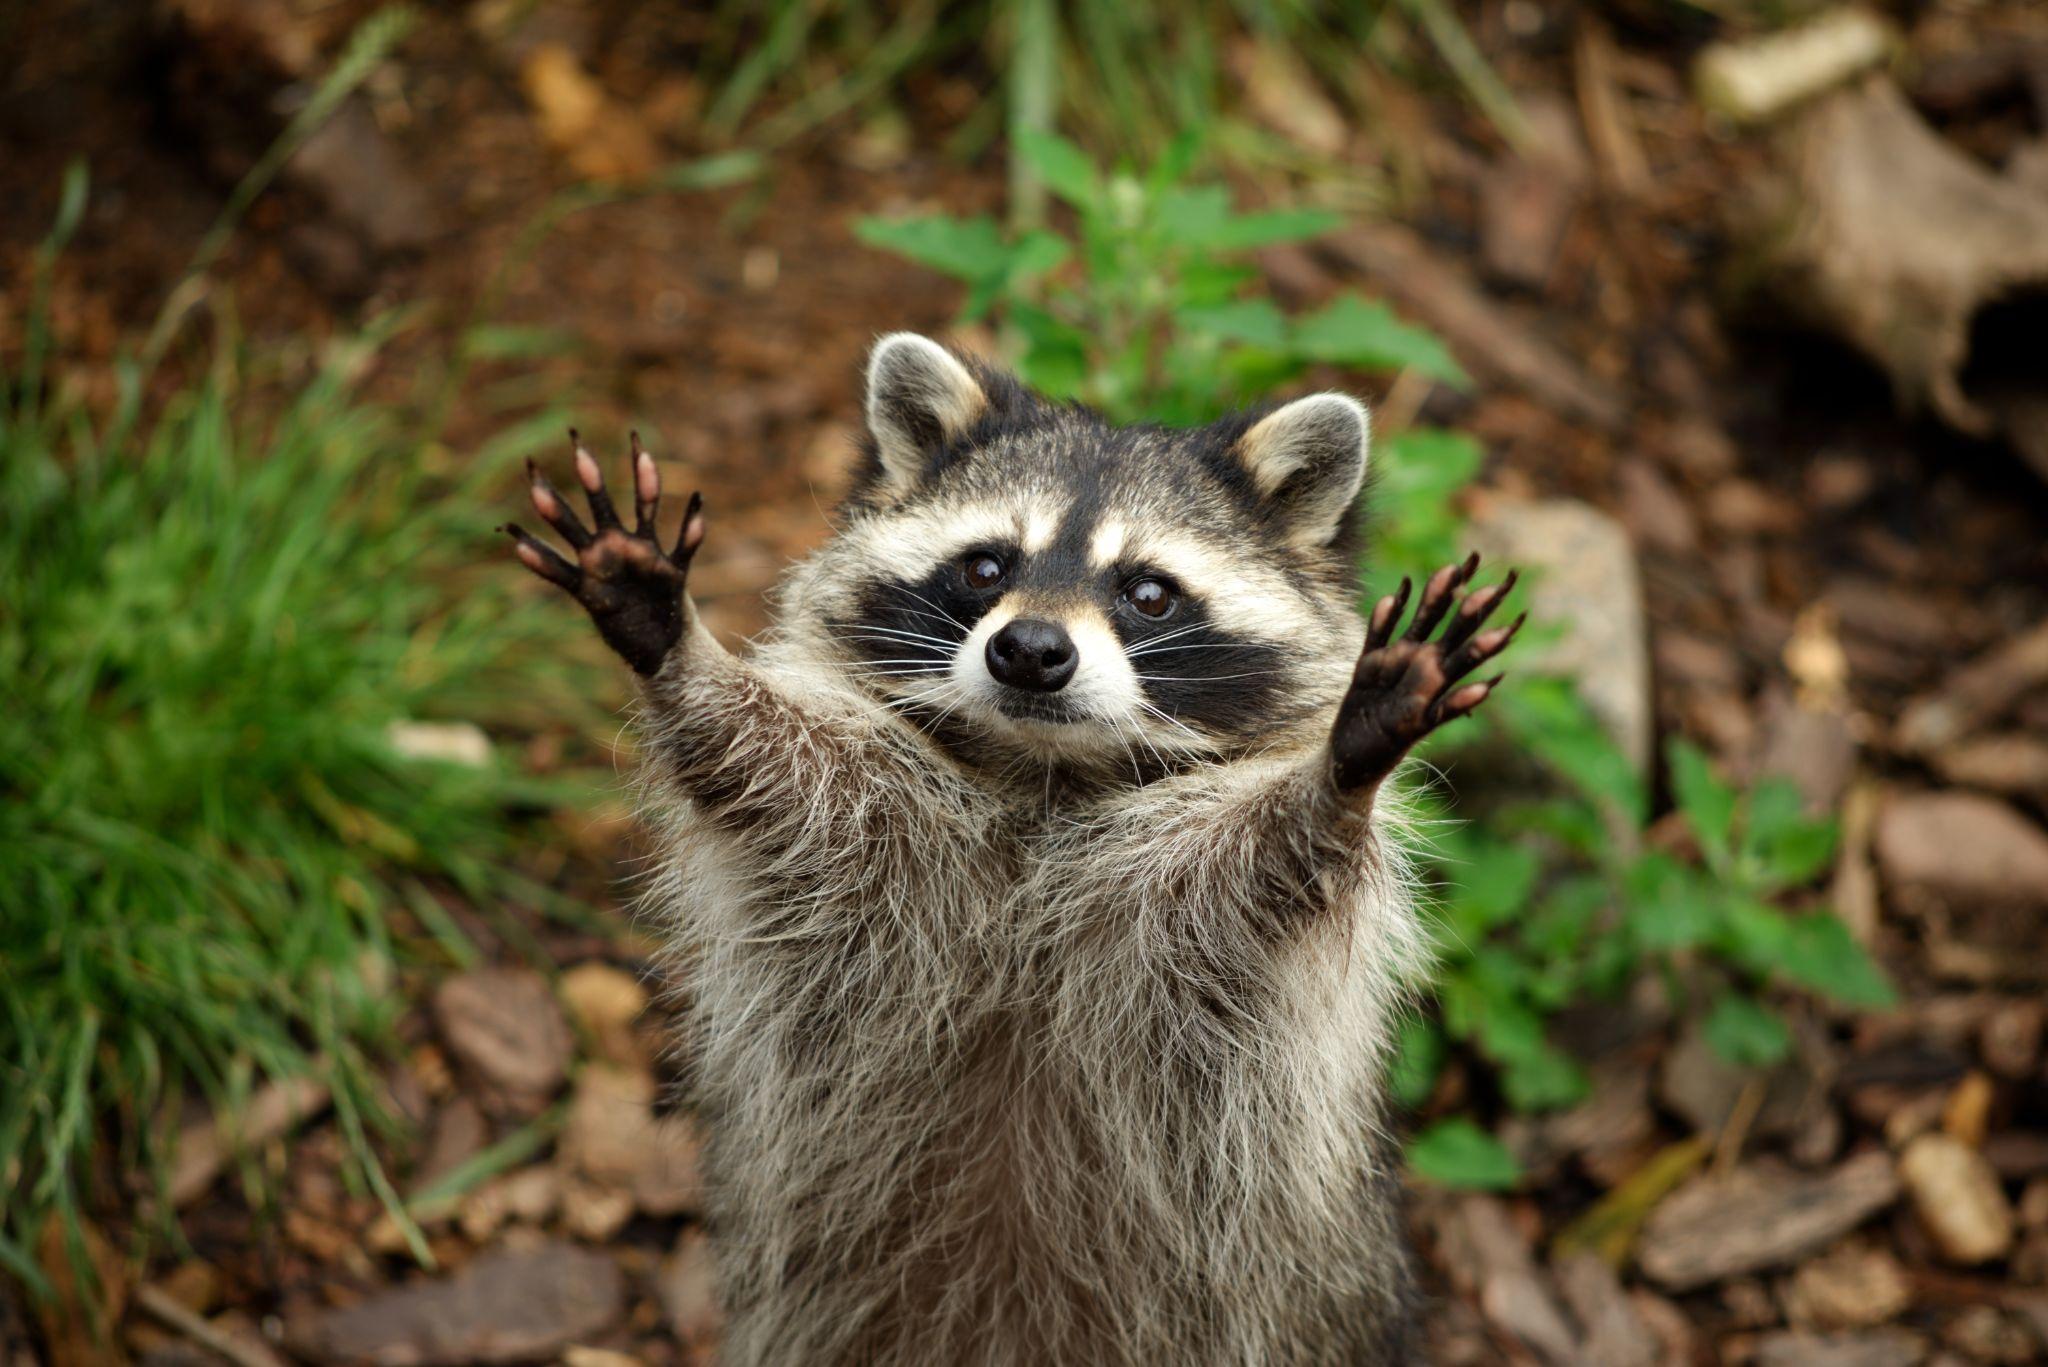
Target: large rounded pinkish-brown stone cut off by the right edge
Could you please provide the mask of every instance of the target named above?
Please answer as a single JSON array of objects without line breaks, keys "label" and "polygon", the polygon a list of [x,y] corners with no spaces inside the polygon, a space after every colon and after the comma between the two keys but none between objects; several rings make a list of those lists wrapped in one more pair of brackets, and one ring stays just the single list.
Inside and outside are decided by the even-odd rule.
[{"label": "large rounded pinkish-brown stone cut off by the right edge", "polygon": [[1993,797],[1894,793],[1878,814],[1876,853],[1892,889],[2048,906],[2048,834]]}]

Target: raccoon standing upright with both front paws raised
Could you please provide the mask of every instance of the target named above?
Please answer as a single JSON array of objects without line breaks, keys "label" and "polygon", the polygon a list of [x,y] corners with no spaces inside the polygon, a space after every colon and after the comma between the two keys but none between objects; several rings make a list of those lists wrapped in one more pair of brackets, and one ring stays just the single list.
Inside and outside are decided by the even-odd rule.
[{"label": "raccoon standing upright with both front paws raised", "polygon": [[725,1359],[1411,1359],[1384,781],[1522,623],[1477,557],[1360,617],[1366,410],[1110,426],[887,336],[745,656],[702,500],[664,549],[639,439],[631,531],[573,447],[594,525],[530,471],[573,562],[506,531],[643,680]]}]

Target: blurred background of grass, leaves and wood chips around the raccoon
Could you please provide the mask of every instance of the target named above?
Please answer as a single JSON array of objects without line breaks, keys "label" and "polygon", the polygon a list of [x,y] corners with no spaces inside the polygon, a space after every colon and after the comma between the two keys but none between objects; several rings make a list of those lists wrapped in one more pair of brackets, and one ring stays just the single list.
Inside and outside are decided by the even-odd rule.
[{"label": "blurred background of grass, leaves and wood chips around the raccoon", "polygon": [[637,426],[739,639],[897,328],[1116,418],[1352,389],[1366,582],[1532,572],[1415,779],[1432,1361],[2048,1359],[2048,8],[0,51],[0,1363],[715,1355],[625,676],[492,527]]}]

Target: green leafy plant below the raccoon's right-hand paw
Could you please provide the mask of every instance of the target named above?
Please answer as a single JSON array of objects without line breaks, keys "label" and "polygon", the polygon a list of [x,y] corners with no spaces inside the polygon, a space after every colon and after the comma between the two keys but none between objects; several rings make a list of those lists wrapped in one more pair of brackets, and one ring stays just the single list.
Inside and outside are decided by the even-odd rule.
[{"label": "green leafy plant below the raccoon's right-hand paw", "polygon": [[1561,680],[1501,695],[1495,726],[1544,760],[1561,793],[1434,844],[1442,922],[1440,1023],[1401,1041],[1397,1092],[1427,1099],[1446,1039],[1493,1066],[1509,1107],[1540,1111],[1585,1094],[1579,1064],[1546,1035],[1567,1004],[1612,998],[1645,971],[1669,984],[1729,1062],[1769,1066],[1790,1031],[1763,1000],[1806,990],[1841,1006],[1886,1006],[1890,986],[1847,926],[1825,910],[1784,910],[1835,851],[1835,824],[1806,816],[1780,777],[1739,791],[1683,740],[1671,787],[1698,855],[1645,848],[1647,795],[1626,758]]}]

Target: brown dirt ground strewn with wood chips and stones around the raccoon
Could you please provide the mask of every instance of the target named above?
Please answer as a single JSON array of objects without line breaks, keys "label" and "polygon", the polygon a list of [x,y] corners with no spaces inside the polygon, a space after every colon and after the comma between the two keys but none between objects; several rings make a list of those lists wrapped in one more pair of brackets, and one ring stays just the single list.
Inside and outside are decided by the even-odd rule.
[{"label": "brown dirt ground strewn with wood chips and stones around the raccoon", "polygon": [[[201,23],[238,8],[266,10],[166,6],[201,16],[178,27],[106,0],[14,20],[0,264],[18,299],[59,172],[86,156],[92,209],[55,307],[86,383],[111,383],[117,342],[147,326],[274,131],[276,90],[303,80],[266,64],[289,68],[303,47],[317,66],[367,10],[305,6],[256,39]],[[250,338],[328,334],[410,301],[461,318],[580,174],[649,148],[662,162],[709,150],[694,137],[705,16],[541,4],[494,25],[494,8],[428,12],[367,84],[342,146],[356,162],[389,158],[391,176],[365,187],[299,168],[254,205],[215,271]],[[1581,1023],[1606,1039],[1595,1096],[1509,1123],[1524,1191],[1417,1191],[1434,1361],[2048,1361],[2048,877],[2036,877],[2048,666],[2005,662],[2034,672],[1976,721],[1989,746],[1929,748],[1901,732],[1917,699],[1976,697],[1960,670],[2048,627],[2048,484],[2003,443],[1903,416],[1868,363],[1741,293],[1722,209],[1763,176],[1767,146],[1692,98],[1708,18],[1622,2],[1458,8],[1524,94],[1536,160],[1503,152],[1452,92],[1391,92],[1393,135],[1354,129],[1352,156],[1362,174],[1417,189],[1389,223],[1274,252],[1274,289],[1313,301],[1362,287],[1450,334],[1473,393],[1339,379],[1397,420],[1405,408],[1477,434],[1489,453],[1477,506],[1577,498],[1620,521],[1642,574],[1657,734],[1692,736],[1735,773],[1790,773],[1843,814],[1835,904],[1905,1004],[1855,1019],[1808,1008],[1796,1062],[1761,1088],[1655,1010]],[[2048,133],[2048,12],[1927,4],[1905,20],[1905,88],[1970,156],[2005,164]],[[541,47],[612,100],[594,131],[551,125]],[[756,629],[772,576],[823,537],[864,348],[952,318],[954,287],[862,248],[850,223],[999,209],[997,158],[961,166],[936,152],[983,94],[981,72],[918,78],[903,127],[827,123],[754,182],[573,215],[508,281],[500,322],[575,340],[547,363],[545,391],[573,398],[604,441],[639,424],[672,480],[705,488],[717,525],[696,584],[723,631]],[[8,307],[0,346],[16,328]],[[379,383],[395,391],[438,363],[449,336],[403,340]],[[1518,363],[1501,338],[1540,363]],[[457,457],[502,420],[487,389],[473,385],[451,426]],[[567,832],[565,848],[625,857],[618,842],[600,822]],[[477,935],[496,945],[481,920]],[[420,1140],[391,1152],[401,1187],[541,1135],[428,1221],[440,1273],[420,1273],[375,1199],[344,1187],[340,1135],[315,1105],[279,1160],[274,1209],[252,1209],[233,1180],[201,1185],[190,1252],[166,1254],[127,1295],[123,1351],[152,1363],[518,1361],[578,1344],[565,1361],[584,1367],[709,1355],[694,1150],[651,1119],[664,1025],[637,986],[645,947],[629,930],[541,937],[573,988],[549,994],[510,951],[492,969],[502,978],[406,984],[418,1006],[391,1092]],[[528,996],[526,1012],[504,1006]],[[518,1058],[502,1058],[500,1037]],[[1640,1195],[1659,1162],[1686,1162],[1677,1176],[1700,1166],[1686,1150],[1696,1133],[1714,1150],[1710,1176],[1675,1197],[1694,1201],[1692,1217],[1661,1256],[1638,1248],[1620,1277],[1597,1258],[1552,1258],[1559,1230],[1614,1193]],[[1944,1146],[1966,1160],[1948,1162]],[[1960,1252],[1942,1221],[1939,1207],[1972,1203],[2003,1219],[1987,1256]],[[469,1279],[459,1308],[449,1277]],[[412,1299],[389,1299],[406,1285],[395,1295]],[[0,1361],[10,1342],[45,1361],[27,1347],[33,1320],[0,1303]],[[47,1361],[94,1361],[61,1326],[43,1330]],[[434,1332],[449,1338],[418,1349]]]}]

